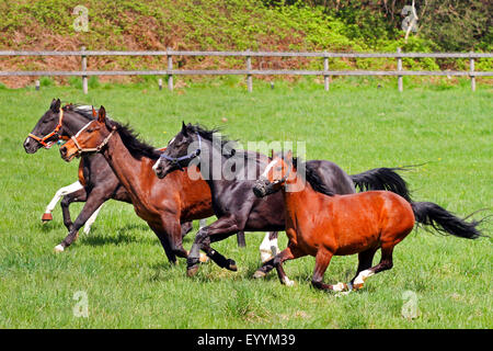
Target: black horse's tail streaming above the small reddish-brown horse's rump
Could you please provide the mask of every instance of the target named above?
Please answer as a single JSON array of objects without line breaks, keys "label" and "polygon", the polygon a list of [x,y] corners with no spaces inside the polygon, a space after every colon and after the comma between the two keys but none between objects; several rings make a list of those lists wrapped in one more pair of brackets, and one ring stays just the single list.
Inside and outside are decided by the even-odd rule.
[{"label": "black horse's tail streaming above the small reddish-brown horse's rump", "polygon": [[375,168],[359,174],[349,176],[360,191],[388,190],[412,202],[408,184],[395,171],[409,168]]}]

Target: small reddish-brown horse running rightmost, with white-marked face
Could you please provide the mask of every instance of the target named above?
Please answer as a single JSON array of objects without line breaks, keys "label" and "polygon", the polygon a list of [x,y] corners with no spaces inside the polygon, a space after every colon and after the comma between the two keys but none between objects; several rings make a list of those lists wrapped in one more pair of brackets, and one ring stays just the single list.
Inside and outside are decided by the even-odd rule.
[{"label": "small reddish-brown horse running rightmost, with white-marked face", "polygon": [[[283,195],[288,246],[264,264],[276,268],[282,284],[294,284],[284,272],[283,262],[313,256],[314,287],[335,292],[359,290],[366,279],[392,268],[395,245],[412,231],[416,222],[461,238],[475,239],[482,235],[477,228],[480,222],[468,223],[437,204],[410,202],[389,191],[328,196],[303,179],[302,173],[291,151],[273,152],[271,163],[252,188],[259,199]],[[378,249],[381,259],[372,265]],[[333,256],[356,253],[358,268],[348,284],[323,283]]]}]

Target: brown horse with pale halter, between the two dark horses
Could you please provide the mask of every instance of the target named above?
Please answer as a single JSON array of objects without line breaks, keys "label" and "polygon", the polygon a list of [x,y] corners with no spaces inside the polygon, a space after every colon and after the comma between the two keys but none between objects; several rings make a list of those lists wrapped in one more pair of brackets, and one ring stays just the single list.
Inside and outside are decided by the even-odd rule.
[{"label": "brown horse with pale halter, between the two dark horses", "polygon": [[130,196],[137,215],[156,233],[170,262],[186,258],[181,224],[210,217],[210,190],[202,180],[191,180],[187,172],[175,172],[160,180],[152,166],[160,151],[140,141],[126,126],[106,120],[101,106],[98,120],[90,121],[60,148],[66,161],[76,156],[101,152]]}]

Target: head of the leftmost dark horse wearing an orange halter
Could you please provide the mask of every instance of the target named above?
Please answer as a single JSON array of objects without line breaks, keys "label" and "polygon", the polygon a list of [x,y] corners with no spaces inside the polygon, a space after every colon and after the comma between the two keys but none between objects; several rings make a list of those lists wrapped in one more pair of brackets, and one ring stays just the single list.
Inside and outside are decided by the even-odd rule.
[{"label": "head of the leftmost dark horse wearing an orange halter", "polygon": [[34,129],[24,140],[24,149],[27,154],[36,152],[41,147],[50,148],[59,140],[64,111],[60,99],[53,100],[48,111],[37,121]]}]

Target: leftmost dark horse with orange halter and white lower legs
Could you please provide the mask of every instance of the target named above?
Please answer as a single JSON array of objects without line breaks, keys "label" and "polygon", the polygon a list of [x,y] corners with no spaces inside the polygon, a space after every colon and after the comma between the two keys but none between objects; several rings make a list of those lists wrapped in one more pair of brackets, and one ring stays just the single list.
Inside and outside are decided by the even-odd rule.
[{"label": "leftmost dark horse with orange halter and white lower legs", "polygon": [[[25,151],[35,154],[42,147],[49,149],[56,143],[68,140],[88,122],[94,120],[95,114],[96,111],[92,106],[67,104],[62,107],[60,100],[54,99],[48,111],[43,114],[24,140]],[[82,226],[84,226],[84,233],[88,234],[101,207],[110,199],[131,203],[127,191],[102,155],[82,156],[78,173],[79,180],[60,188],[42,216],[44,223],[51,220],[51,212],[62,197],[60,206],[64,224],[69,233],[55,247],[56,252],[61,252],[69,247],[77,239],[78,231]],[[85,204],[72,223],[69,206],[73,202],[85,202]],[[205,226],[205,219],[200,219],[202,226]],[[192,223],[183,223],[182,235],[186,235],[192,228]]]}]

